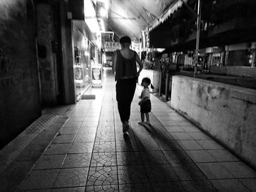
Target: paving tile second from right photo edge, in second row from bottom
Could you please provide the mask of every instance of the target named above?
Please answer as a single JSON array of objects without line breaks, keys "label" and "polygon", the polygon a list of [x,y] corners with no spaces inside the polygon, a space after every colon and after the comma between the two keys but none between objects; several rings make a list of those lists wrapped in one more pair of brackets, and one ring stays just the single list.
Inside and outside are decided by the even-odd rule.
[{"label": "paving tile second from right photo edge, in second row from bottom", "polygon": [[232,179],[234,178],[224,166],[220,163],[198,163],[197,166],[202,170],[210,180],[214,179]]}]

